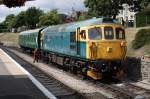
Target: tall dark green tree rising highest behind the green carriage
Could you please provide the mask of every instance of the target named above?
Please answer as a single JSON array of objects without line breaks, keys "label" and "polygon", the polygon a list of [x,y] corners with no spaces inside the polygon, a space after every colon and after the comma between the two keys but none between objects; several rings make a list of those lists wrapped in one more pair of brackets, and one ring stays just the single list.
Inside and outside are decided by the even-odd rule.
[{"label": "tall dark green tree rising highest behind the green carriage", "polygon": [[39,17],[43,15],[43,11],[35,7],[31,7],[26,11],[26,23],[29,28],[36,28]]}]

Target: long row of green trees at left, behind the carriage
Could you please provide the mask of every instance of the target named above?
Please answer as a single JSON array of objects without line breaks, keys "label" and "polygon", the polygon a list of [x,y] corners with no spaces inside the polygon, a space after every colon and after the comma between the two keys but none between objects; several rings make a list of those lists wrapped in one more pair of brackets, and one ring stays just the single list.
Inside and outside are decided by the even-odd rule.
[{"label": "long row of green trees at left, behind the carriage", "polygon": [[[26,11],[20,12],[18,15],[10,14],[5,21],[0,24],[1,31],[9,32],[12,28],[25,26],[28,29],[34,29],[38,26],[56,25],[60,23],[61,18],[56,9],[44,13],[42,10],[31,7]],[[4,28],[5,27],[5,28]]]}]

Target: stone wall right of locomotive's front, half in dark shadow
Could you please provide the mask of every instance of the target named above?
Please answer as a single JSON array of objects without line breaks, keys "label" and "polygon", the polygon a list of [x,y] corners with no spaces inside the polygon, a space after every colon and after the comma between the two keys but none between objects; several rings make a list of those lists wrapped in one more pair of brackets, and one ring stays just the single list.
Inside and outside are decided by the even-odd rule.
[{"label": "stone wall right of locomotive's front, half in dark shadow", "polygon": [[132,81],[150,81],[150,57],[127,57],[124,63],[126,78]]}]

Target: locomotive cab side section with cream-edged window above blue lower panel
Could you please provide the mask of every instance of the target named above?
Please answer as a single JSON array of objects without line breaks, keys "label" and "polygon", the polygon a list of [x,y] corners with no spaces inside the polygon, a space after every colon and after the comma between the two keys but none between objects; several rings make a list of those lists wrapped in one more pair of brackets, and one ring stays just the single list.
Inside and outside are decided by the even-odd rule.
[{"label": "locomotive cab side section with cream-edged window above blue lower panel", "polygon": [[77,55],[86,57],[86,29],[77,29]]}]

